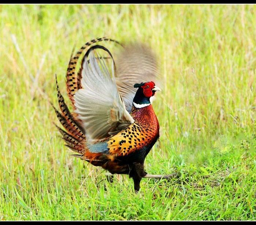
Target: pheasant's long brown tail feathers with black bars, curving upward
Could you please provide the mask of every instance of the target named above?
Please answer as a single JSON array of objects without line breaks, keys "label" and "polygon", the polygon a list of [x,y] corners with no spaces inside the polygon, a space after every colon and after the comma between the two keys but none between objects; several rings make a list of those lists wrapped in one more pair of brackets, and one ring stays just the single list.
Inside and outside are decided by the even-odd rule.
[{"label": "pheasant's long brown tail feathers with black bars, curving upward", "polygon": [[[77,90],[82,88],[81,79],[82,79],[82,70],[83,70],[82,68],[83,63],[82,63],[79,69],[79,72],[76,73],[76,64],[78,62],[80,55],[84,50],[87,50],[88,52],[90,52],[89,51],[90,48],[93,47],[91,45],[101,41],[111,41],[111,42],[120,44],[116,40],[112,40],[109,38],[105,38],[105,37],[97,38],[97,39],[91,40],[90,42],[85,43],[80,48],[80,50],[75,54],[74,57],[71,55],[71,59],[68,64],[67,75],[66,75],[66,86],[67,86],[68,97],[71,100],[72,106],[74,109],[75,109],[74,95]],[[83,61],[84,61],[84,58],[83,58]],[[56,89],[57,89],[60,112],[53,105],[52,106],[56,112],[57,118],[59,119],[61,125],[63,125],[65,129],[64,131],[63,129],[61,129],[56,125],[59,132],[63,136],[63,140],[66,143],[65,146],[70,148],[72,151],[78,153],[73,156],[86,160],[95,166],[100,166],[102,164],[102,160],[99,159],[101,157],[101,154],[97,152],[89,151],[86,144],[85,131],[83,127],[80,125],[80,120],[77,118],[76,113],[71,113],[68,109],[68,106],[65,104],[64,98],[61,95],[59,90],[57,76],[56,76]]]}]

